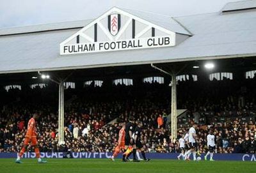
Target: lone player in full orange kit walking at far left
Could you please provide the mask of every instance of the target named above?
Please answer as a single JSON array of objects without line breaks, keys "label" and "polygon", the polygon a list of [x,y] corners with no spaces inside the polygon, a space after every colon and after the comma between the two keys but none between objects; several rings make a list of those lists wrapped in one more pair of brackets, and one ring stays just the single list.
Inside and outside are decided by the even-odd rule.
[{"label": "lone player in full orange kit walking at far left", "polygon": [[31,119],[29,119],[28,121],[28,130],[27,133],[25,135],[25,140],[24,140],[24,146],[22,147],[19,156],[17,157],[17,160],[15,161],[15,163],[22,163],[20,161],[20,158],[22,158],[22,155],[26,152],[26,150],[28,149],[28,145],[30,144],[31,146],[34,147],[35,149],[35,153],[36,153],[36,158],[38,159],[38,163],[47,163],[47,161],[42,160],[40,157],[40,152],[38,149],[38,142],[36,140],[36,119],[38,119],[39,115],[37,113],[33,114],[33,117],[31,117]]}]

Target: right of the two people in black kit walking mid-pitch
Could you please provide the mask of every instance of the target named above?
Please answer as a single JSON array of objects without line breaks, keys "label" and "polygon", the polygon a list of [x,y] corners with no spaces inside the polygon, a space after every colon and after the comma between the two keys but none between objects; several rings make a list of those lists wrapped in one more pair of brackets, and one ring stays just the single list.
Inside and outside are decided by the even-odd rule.
[{"label": "right of the two people in black kit walking mid-pitch", "polygon": [[150,161],[150,159],[146,158],[143,145],[141,144],[140,135],[141,135],[142,122],[137,121],[136,124],[137,124],[137,126],[135,127],[135,130],[134,130],[134,141],[135,141],[137,149],[140,149],[143,159],[148,162],[148,161]]}]

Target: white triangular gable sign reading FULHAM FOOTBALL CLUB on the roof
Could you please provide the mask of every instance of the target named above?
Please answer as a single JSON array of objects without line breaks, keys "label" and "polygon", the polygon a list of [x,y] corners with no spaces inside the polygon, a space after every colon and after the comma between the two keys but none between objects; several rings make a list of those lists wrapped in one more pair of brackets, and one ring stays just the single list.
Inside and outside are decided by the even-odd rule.
[{"label": "white triangular gable sign reading FULHAM FOOTBALL CLUB on the roof", "polygon": [[170,46],[175,46],[173,31],[118,8],[112,8],[60,43],[60,54],[88,54]]}]

